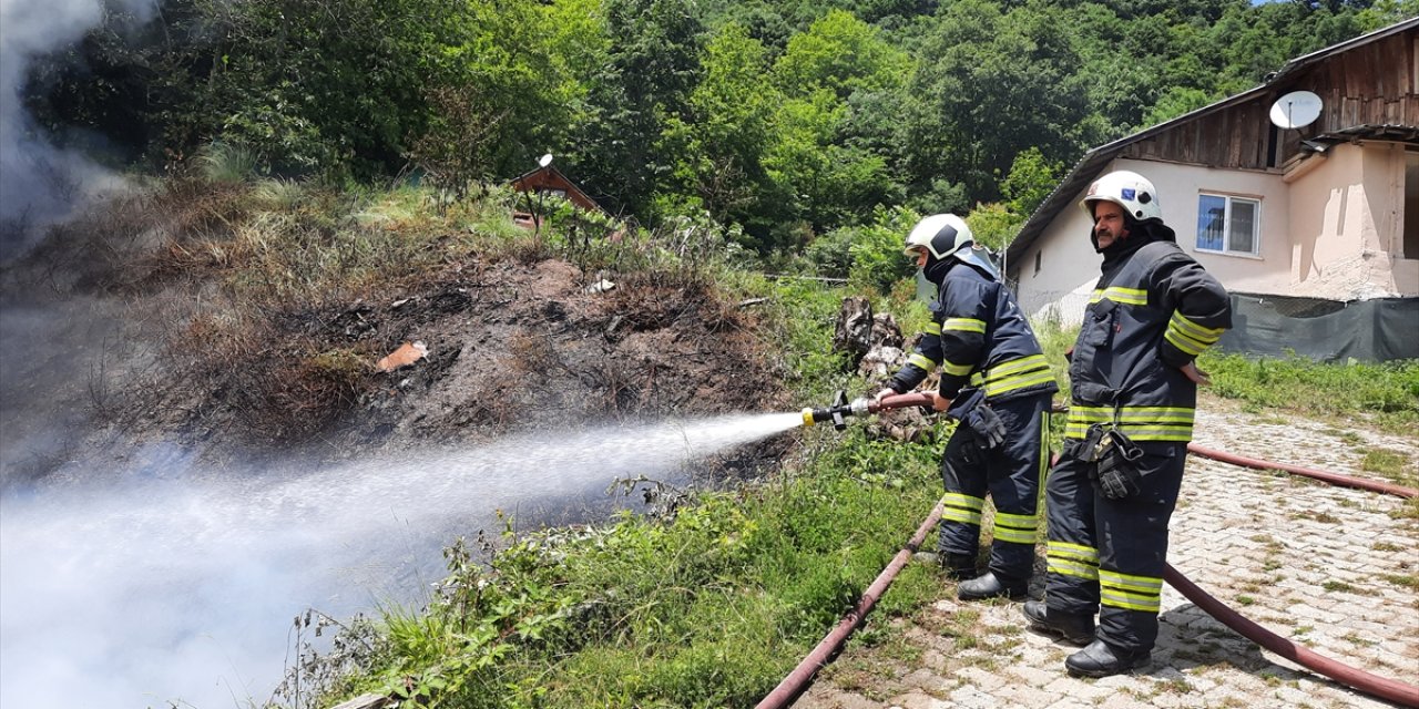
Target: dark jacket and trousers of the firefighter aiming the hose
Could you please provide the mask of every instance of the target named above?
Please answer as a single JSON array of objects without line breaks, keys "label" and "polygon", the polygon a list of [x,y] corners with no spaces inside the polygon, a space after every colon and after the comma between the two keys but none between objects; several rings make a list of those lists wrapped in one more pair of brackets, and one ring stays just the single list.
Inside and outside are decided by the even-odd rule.
[{"label": "dark jacket and trousers of the firefighter aiming the hose", "polygon": [[961,404],[979,401],[1005,427],[1005,441],[990,450],[982,450],[965,424],[946,442],[939,549],[946,554],[976,554],[989,492],[998,542],[990,570],[1007,583],[1023,583],[1030,576],[1040,523],[1037,498],[1047,467],[1042,447],[1044,417],[1059,386],[1029,320],[1003,284],[955,258],[932,259],[925,275],[938,285],[932,322],[888,386],[910,391],[939,366],[941,396],[956,401],[952,415],[966,417],[969,411]]}]

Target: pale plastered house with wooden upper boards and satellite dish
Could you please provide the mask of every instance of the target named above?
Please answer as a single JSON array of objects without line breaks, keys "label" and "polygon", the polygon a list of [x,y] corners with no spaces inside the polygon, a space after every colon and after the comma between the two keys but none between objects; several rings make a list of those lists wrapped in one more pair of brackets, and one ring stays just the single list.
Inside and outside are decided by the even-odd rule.
[{"label": "pale plastered house with wooden upper boards and satellite dish", "polygon": [[1250,91],[1086,153],[1007,247],[1006,275],[1032,315],[1078,322],[1100,264],[1080,200],[1098,176],[1132,170],[1158,189],[1178,244],[1233,294],[1223,345],[1419,357],[1416,94],[1419,18],[1294,58]]}]

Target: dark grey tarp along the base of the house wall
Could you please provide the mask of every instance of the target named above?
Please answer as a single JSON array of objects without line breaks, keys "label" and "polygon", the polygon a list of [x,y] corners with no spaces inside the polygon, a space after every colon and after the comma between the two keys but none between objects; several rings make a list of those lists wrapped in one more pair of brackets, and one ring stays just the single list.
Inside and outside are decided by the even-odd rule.
[{"label": "dark grey tarp along the base of the house wall", "polygon": [[1218,347],[1315,362],[1419,359],[1419,298],[1325,301],[1232,294],[1232,329]]}]

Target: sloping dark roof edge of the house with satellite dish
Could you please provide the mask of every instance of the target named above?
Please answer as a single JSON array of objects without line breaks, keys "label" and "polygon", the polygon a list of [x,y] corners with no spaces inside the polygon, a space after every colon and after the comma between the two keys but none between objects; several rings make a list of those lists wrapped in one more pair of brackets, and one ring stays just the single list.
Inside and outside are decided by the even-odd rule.
[{"label": "sloping dark roof edge of the house with satellite dish", "polygon": [[[1419,17],[1403,20],[1382,30],[1375,30],[1369,34],[1362,34],[1352,40],[1347,40],[1340,44],[1332,44],[1330,47],[1325,47],[1324,50],[1313,51],[1303,57],[1297,57],[1286,62],[1276,72],[1267,75],[1266,82],[1256,88],[1247,89],[1233,96],[1227,96],[1222,101],[1218,101],[1216,104],[1199,108],[1189,113],[1183,113],[1172,121],[1158,123],[1152,128],[1139,130],[1137,133],[1120,138],[1118,140],[1114,140],[1111,143],[1105,143],[1091,149],[1090,152],[1084,153],[1083,157],[1080,157],[1080,160],[1074,164],[1074,167],[1069,172],[1069,174],[1066,174],[1064,179],[1054,187],[1054,191],[1051,191],[1049,197],[1046,197],[1044,201],[1042,201],[1040,206],[1036,207],[1034,213],[1030,214],[1030,218],[1025,221],[1025,225],[1020,227],[1020,233],[1016,234],[1015,238],[1010,241],[1010,245],[1006,247],[1006,262],[1012,264],[1016,259],[1022,258],[1025,255],[1025,250],[1027,250],[1032,244],[1034,244],[1036,240],[1040,238],[1040,234],[1044,233],[1044,227],[1049,225],[1049,223],[1054,218],[1054,216],[1059,214],[1061,208],[1073,203],[1074,196],[1084,191],[1084,187],[1090,182],[1093,182],[1095,176],[1098,176],[1100,169],[1103,169],[1104,164],[1108,164],[1115,157],[1118,157],[1118,155],[1122,153],[1124,149],[1128,147],[1130,145],[1152,138],[1158,133],[1169,130],[1174,126],[1186,123],[1189,121],[1196,121],[1209,113],[1215,113],[1218,111],[1235,106],[1237,104],[1244,104],[1247,101],[1252,101],[1261,94],[1273,91],[1274,86],[1281,84],[1286,78],[1294,75],[1296,72],[1318,61],[1323,61],[1328,57],[1332,57],[1335,54],[1348,50],[1354,50],[1357,47],[1362,47],[1372,41],[1384,40],[1386,37],[1403,33],[1413,27],[1419,27]],[[1376,126],[1357,126],[1357,128],[1376,128]],[[1384,126],[1384,128],[1402,128],[1402,126]],[[1344,133],[1344,130],[1340,130],[1337,133]]]}]

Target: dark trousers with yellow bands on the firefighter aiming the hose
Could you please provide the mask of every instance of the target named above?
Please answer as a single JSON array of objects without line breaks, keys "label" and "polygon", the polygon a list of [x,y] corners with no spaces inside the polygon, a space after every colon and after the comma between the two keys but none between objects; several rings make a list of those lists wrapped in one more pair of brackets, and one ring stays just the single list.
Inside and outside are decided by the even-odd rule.
[{"label": "dark trousers with yellow bands on the firefighter aiming the hose", "polygon": [[1026,581],[1034,569],[1040,481],[1049,467],[1044,427],[1050,398],[1051,393],[1044,391],[982,404],[1000,417],[1005,441],[983,451],[966,424],[961,424],[942,455],[946,505],[938,549],[944,554],[976,554],[989,492],[995,502],[990,571],[1005,583]]}]

